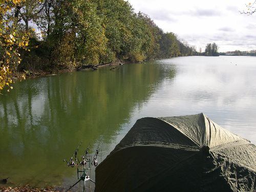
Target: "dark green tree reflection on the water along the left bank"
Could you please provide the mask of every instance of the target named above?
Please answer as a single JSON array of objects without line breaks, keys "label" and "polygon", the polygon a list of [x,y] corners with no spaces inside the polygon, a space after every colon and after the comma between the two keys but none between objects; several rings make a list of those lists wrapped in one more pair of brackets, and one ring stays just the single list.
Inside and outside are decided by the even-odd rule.
[{"label": "dark green tree reflection on the water along the left bank", "polygon": [[11,93],[0,96],[0,176],[11,177],[14,186],[71,185],[76,170],[62,160],[80,141],[81,153],[90,141],[94,153],[101,137],[102,158],[108,155],[134,106],[166,76],[174,77],[175,69],[147,63],[16,82]]}]

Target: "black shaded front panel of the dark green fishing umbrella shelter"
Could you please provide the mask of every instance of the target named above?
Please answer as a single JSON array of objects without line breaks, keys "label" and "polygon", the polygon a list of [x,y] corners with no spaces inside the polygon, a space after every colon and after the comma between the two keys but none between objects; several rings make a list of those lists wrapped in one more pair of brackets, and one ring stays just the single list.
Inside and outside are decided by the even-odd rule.
[{"label": "black shaded front panel of the dark green fishing umbrella shelter", "polygon": [[213,162],[202,151],[127,147],[96,168],[95,191],[232,191]]}]

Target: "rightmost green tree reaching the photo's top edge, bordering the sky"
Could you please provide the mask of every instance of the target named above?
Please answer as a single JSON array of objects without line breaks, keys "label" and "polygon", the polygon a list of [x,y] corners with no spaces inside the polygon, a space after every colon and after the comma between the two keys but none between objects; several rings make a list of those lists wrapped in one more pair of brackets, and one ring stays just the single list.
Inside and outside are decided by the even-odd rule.
[{"label": "rightmost green tree reaching the photo's top edge, bordering the sky", "polygon": [[105,27],[108,52],[113,52],[117,57],[126,57],[133,38],[132,6],[122,0],[99,0],[97,11]]}]

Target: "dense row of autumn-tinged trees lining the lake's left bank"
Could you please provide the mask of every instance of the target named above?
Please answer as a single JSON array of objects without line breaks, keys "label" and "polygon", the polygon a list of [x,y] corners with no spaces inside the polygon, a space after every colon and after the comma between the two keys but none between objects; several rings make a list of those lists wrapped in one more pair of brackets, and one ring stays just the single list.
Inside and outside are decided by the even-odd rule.
[{"label": "dense row of autumn-tinged trees lining the lake's left bank", "polygon": [[[19,71],[74,69],[117,58],[137,62],[196,52],[123,0],[26,0],[8,14],[17,21],[16,34],[31,34],[30,52],[20,51]],[[35,30],[30,27],[34,24]]]}]

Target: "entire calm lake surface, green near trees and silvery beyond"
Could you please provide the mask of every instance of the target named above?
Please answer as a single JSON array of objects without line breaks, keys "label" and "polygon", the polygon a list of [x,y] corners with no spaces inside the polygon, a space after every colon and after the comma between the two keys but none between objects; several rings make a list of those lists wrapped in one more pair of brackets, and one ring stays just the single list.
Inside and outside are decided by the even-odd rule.
[{"label": "entire calm lake surface, green near trees and silvery beyond", "polygon": [[203,112],[255,144],[255,74],[256,57],[194,56],[16,82],[0,95],[0,179],[68,188],[76,168],[63,159],[80,141],[78,155],[89,142],[93,155],[101,141],[100,162],[142,117]]}]

